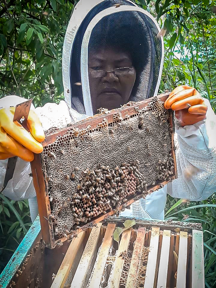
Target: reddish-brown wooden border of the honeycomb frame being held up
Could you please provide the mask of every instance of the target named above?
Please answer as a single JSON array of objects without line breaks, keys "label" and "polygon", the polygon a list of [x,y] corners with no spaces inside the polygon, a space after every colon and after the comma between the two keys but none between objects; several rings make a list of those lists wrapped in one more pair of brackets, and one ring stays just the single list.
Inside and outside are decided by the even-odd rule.
[{"label": "reddish-brown wooden border of the honeycomb frame being held up", "polygon": [[[158,98],[160,101],[165,102],[169,93],[159,95]],[[137,110],[141,110],[143,107],[146,107],[151,99],[141,101],[139,103],[133,103],[133,104],[126,104],[122,108],[118,110],[111,110],[109,113],[104,114],[98,114],[93,117],[89,117],[88,119],[85,119],[81,122],[76,122],[73,125],[60,129],[57,132],[54,132],[52,134],[49,134],[46,139],[43,142],[43,146],[46,147],[49,144],[52,144],[55,142],[56,138],[59,136],[62,136],[67,133],[67,131],[71,130],[72,128],[79,128],[84,129],[88,127],[88,125],[91,125],[91,127],[96,127],[101,121],[103,121],[104,118],[107,119],[108,123],[114,122],[116,119],[113,119],[114,115],[116,115],[116,112],[121,112],[122,119],[124,119],[126,116],[135,115],[137,113]],[[173,112],[172,110],[168,111],[169,117],[168,117],[168,123],[170,126],[170,137],[171,137],[171,147],[172,150],[170,153],[172,154],[172,158],[174,159],[174,169],[173,174],[170,175],[170,181],[177,178],[177,167],[176,167],[176,157],[175,157],[175,149],[174,149],[174,119],[173,119]],[[81,227],[77,228],[76,230],[72,230],[70,234],[67,235],[67,237],[60,238],[58,240],[55,240],[54,238],[54,231],[53,231],[53,224],[52,224],[52,215],[51,215],[51,209],[50,209],[50,202],[49,202],[49,195],[48,195],[48,182],[47,178],[44,175],[44,172],[42,170],[43,161],[42,156],[40,154],[35,154],[34,161],[31,162],[31,168],[32,168],[32,176],[33,176],[33,182],[35,186],[35,190],[37,193],[37,199],[38,199],[38,210],[40,215],[40,221],[41,221],[41,231],[43,235],[44,242],[47,247],[53,249],[56,244],[61,244],[61,242],[64,242],[68,239],[71,239],[73,235],[78,234],[79,232],[88,229],[89,227],[92,227],[95,223],[98,223],[104,218],[109,217],[117,212],[117,210],[113,210],[112,208],[106,213],[99,215],[98,217],[94,217],[91,222],[82,225]],[[160,187],[163,187],[163,185],[167,184],[169,181],[166,180],[164,182],[160,182],[159,184],[152,185],[148,187],[147,192],[158,190]],[[150,193],[150,192],[149,192]],[[147,193],[145,193],[147,195]],[[137,201],[138,199],[142,198],[144,195],[141,193],[140,195],[134,195],[133,199],[130,199],[124,205],[121,205],[118,210],[121,211],[123,208],[125,208],[128,205],[131,205],[133,202]]]}]

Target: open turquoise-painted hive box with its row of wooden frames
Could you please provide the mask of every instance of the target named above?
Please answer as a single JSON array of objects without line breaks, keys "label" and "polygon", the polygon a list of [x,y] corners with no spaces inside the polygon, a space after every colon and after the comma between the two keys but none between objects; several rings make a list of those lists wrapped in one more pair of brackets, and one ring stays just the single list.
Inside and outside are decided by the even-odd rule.
[{"label": "open turquoise-painted hive box with its row of wooden frames", "polygon": [[2,288],[204,288],[201,224],[110,218],[55,249],[35,220],[0,275]]}]

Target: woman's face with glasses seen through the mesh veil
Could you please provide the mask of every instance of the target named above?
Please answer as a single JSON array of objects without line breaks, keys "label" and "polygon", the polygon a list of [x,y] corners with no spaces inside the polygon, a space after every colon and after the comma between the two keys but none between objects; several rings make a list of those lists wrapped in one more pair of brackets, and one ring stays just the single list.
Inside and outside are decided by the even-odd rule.
[{"label": "woman's face with glasses seen through the mesh veil", "polygon": [[[108,72],[102,77],[93,71],[114,71],[116,68],[132,67],[125,75]],[[108,110],[121,107],[128,102],[136,79],[131,57],[126,52],[112,48],[90,54],[88,58],[89,86],[94,114],[103,107]],[[95,75],[97,74],[97,77]],[[99,73],[102,75],[102,73]]]}]

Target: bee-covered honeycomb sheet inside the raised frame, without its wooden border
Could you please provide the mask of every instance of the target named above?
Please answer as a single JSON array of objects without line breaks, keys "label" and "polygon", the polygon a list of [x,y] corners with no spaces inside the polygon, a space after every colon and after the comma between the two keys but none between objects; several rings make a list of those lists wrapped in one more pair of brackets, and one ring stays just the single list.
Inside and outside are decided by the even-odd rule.
[{"label": "bee-covered honeycomb sheet inside the raised frame, without its wooden border", "polygon": [[96,128],[73,128],[44,149],[57,238],[171,179],[174,159],[163,103],[154,99],[125,119],[121,109],[113,122],[104,118]]}]

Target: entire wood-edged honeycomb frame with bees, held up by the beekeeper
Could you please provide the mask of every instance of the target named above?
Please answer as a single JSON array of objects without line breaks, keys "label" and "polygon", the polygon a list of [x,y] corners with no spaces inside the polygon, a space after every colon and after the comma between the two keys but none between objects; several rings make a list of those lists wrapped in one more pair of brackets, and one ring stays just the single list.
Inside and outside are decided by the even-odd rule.
[{"label": "entire wood-edged honeycomb frame with bees, held up by the beekeeper", "polygon": [[31,163],[44,241],[54,248],[177,177],[168,94],[46,132]]}]

